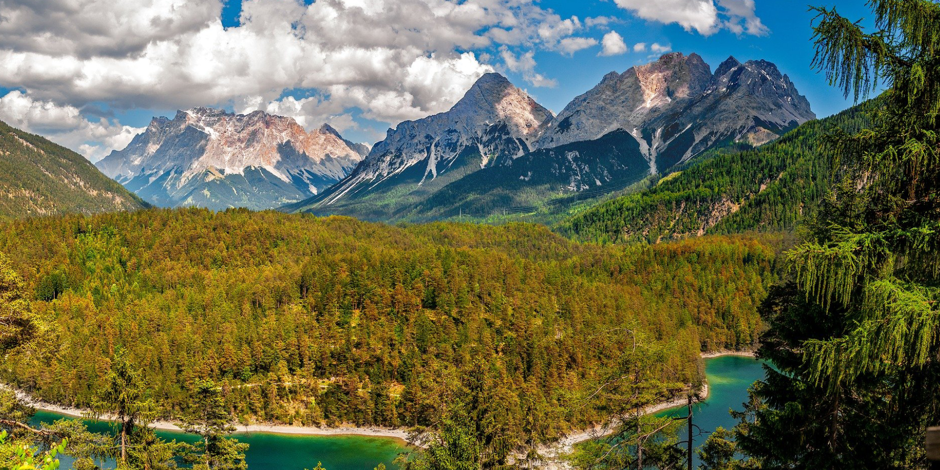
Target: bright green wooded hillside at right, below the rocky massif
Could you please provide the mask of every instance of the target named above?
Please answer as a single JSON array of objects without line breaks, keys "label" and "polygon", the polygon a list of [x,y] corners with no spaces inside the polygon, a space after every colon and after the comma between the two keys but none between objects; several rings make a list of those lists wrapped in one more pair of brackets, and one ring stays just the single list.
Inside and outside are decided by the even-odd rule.
[{"label": "bright green wooded hillside at right, below the rocky massif", "polygon": [[649,190],[587,209],[558,228],[581,240],[650,243],[790,230],[830,187],[832,155],[823,148],[823,136],[863,129],[873,105],[809,121],[758,149],[716,150]]}]

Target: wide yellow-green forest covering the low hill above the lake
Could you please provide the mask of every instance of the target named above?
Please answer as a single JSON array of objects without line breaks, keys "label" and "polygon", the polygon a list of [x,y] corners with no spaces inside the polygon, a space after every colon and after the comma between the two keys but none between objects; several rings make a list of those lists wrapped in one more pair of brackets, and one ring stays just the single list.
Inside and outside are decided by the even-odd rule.
[{"label": "wide yellow-green forest covering the low hill above the lake", "polygon": [[698,380],[703,349],[753,346],[780,243],[602,246],[532,225],[273,211],[14,220],[0,250],[55,334],[0,374],[86,406],[123,350],[167,416],[205,378],[242,420],[412,426],[473,369],[501,424],[557,435],[603,414],[578,400],[630,347],[626,329],[667,351],[662,379],[678,384]]}]

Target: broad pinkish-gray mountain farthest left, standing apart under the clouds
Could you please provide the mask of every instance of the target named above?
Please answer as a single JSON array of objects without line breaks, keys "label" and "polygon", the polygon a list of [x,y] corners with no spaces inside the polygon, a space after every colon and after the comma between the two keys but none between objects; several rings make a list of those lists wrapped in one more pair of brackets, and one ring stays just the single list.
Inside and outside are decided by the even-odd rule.
[{"label": "broad pinkish-gray mountain farthest left, standing apart under the clouds", "polygon": [[153,118],[98,166],[159,206],[263,210],[342,180],[365,151],[326,124],[307,133],[293,118],[196,108]]}]

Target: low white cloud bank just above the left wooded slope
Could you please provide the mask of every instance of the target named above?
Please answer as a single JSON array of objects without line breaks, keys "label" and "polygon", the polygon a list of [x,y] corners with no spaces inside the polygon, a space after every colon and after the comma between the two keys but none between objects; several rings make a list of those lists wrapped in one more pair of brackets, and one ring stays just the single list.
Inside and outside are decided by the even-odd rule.
[{"label": "low white cloud bank just above the left wooded slope", "polygon": [[78,149],[88,160],[101,160],[113,149],[123,149],[143,128],[122,126],[117,120],[90,121],[74,106],[59,106],[30,98],[20,90],[0,98],[0,120],[39,133],[70,149]]}]

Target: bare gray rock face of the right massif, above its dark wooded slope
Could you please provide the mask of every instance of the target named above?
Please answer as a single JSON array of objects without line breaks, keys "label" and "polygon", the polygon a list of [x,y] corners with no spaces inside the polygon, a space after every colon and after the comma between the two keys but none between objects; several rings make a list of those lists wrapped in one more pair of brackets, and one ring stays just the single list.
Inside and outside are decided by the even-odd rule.
[{"label": "bare gray rock face of the right massif, above its dark wooded slope", "polygon": [[623,130],[656,173],[722,143],[766,143],[813,118],[806,97],[770,62],[729,57],[712,73],[697,54],[672,53],[608,73],[558,114],[536,147]]}]

